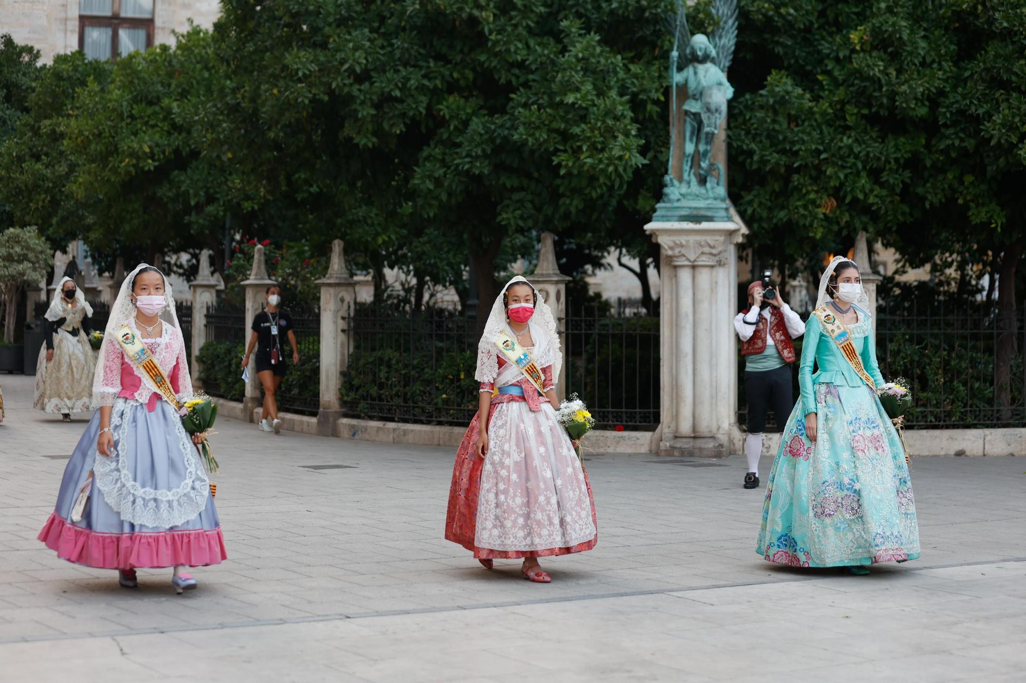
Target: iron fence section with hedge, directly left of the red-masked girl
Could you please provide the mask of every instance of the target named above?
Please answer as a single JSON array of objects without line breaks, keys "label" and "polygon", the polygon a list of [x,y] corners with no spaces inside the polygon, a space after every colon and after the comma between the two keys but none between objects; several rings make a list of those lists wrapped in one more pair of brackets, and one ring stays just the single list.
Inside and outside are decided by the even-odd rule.
[{"label": "iron fence section with hedge, directly left of the red-masked girl", "polygon": [[451,311],[410,313],[357,305],[343,377],[346,414],[365,419],[467,425],[477,409],[477,321]]}]

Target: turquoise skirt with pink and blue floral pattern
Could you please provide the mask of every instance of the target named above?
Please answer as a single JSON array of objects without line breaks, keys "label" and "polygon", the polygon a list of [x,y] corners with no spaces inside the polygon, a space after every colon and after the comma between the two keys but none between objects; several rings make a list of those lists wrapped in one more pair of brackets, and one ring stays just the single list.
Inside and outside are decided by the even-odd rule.
[{"label": "turquoise skirt with pink and blue floral pattern", "polygon": [[771,562],[837,567],[919,557],[898,432],[869,387],[816,385],[818,439],[794,407],[773,464],[755,549]]}]

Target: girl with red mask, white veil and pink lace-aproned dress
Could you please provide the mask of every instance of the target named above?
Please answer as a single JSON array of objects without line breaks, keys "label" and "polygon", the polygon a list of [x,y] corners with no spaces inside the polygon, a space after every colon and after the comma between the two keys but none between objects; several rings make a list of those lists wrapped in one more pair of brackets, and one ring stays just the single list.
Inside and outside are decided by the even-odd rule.
[{"label": "girl with red mask, white veil and pink lace-aproned dress", "polygon": [[[505,332],[541,368],[544,395],[496,345]],[[598,540],[588,476],[556,420],[562,355],[552,311],[515,277],[492,306],[478,346],[479,410],[460,444],[445,537],[482,565],[523,559],[521,573],[548,582],[538,558],[579,553]]]}]

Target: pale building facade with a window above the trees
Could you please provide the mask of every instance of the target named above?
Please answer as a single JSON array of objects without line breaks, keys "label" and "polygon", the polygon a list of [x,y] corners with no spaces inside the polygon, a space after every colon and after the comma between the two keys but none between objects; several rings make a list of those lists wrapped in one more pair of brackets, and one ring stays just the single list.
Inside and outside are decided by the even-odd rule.
[{"label": "pale building facade with a window above the trees", "polygon": [[0,0],[0,34],[32,45],[45,64],[75,50],[116,59],[172,43],[190,19],[209,28],[220,13],[218,0]]}]

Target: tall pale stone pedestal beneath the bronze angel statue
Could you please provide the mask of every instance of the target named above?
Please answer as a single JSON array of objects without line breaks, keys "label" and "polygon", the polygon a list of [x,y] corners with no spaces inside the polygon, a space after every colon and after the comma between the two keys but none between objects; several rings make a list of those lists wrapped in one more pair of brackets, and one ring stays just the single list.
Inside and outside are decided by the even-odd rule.
[{"label": "tall pale stone pedestal beneath the bronze angel statue", "polygon": [[738,407],[737,245],[748,229],[726,209],[729,220],[645,226],[663,259],[661,455],[729,454]]}]

